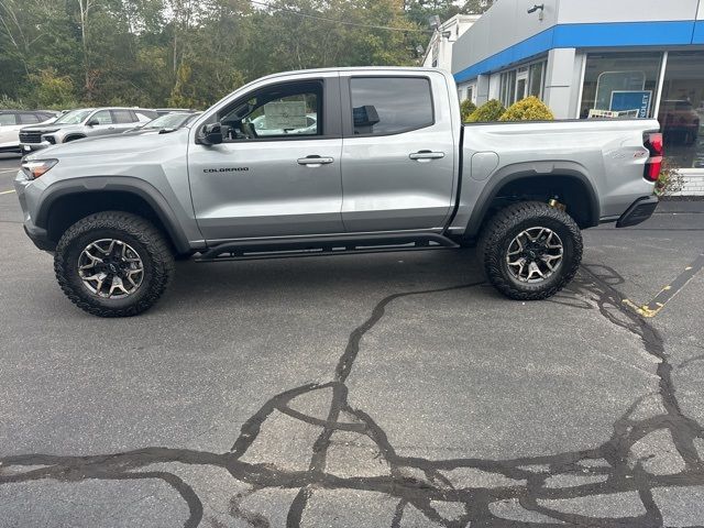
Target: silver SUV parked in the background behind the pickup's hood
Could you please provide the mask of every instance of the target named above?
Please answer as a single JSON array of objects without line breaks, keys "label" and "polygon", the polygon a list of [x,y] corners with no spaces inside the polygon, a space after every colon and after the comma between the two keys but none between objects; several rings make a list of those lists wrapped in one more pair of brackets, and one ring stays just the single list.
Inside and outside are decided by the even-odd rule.
[{"label": "silver SUV parked in the background behind the pickup's hood", "polygon": [[99,135],[120,134],[139,123],[157,117],[143,108],[82,108],[66,112],[51,125],[26,127],[20,130],[23,153],[51,145]]}]

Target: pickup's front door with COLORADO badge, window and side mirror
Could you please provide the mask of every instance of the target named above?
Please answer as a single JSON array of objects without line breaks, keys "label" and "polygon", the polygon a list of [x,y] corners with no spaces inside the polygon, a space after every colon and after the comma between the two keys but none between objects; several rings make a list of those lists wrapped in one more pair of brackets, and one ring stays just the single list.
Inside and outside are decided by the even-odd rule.
[{"label": "pickup's front door with COLORADO badge, window and side mirror", "polygon": [[344,232],[337,73],[270,81],[208,122],[221,123],[223,142],[188,153],[206,240]]}]

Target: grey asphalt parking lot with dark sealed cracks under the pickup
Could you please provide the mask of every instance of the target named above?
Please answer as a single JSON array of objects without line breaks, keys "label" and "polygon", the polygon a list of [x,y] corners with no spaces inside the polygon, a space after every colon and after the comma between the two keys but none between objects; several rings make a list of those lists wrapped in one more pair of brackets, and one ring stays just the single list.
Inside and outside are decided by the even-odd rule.
[{"label": "grey asphalt parking lot with dark sealed cracks under the pickup", "polygon": [[549,301],[463,250],[184,262],[105,320],[22,232],[18,165],[1,527],[704,526],[704,202],[585,232]]}]

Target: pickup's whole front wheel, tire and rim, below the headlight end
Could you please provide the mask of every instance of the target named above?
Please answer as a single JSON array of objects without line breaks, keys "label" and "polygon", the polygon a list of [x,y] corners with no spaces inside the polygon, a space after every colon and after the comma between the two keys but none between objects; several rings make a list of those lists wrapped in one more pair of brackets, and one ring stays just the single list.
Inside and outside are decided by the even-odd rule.
[{"label": "pickup's whole front wheel, tire and rim, below the headlight end", "polygon": [[66,296],[99,317],[136,316],[162,296],[174,274],[164,235],[136,215],[90,215],[58,241],[54,272]]}]

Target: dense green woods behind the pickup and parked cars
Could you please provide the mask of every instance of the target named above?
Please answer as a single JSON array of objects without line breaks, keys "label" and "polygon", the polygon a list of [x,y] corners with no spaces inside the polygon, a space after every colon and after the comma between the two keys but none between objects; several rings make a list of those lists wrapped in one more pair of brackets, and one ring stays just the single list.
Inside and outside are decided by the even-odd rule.
[{"label": "dense green woods behind the pickup and parked cars", "polygon": [[0,97],[45,101],[50,70],[73,86],[61,101],[206,106],[275,72],[410,65],[429,34],[410,8],[402,0],[0,0]]}]

